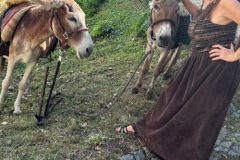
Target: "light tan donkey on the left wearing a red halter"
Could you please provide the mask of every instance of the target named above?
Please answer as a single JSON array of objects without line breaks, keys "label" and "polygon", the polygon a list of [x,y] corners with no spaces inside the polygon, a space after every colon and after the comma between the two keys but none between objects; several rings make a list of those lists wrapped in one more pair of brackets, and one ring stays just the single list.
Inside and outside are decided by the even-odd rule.
[{"label": "light tan donkey on the left wearing a red halter", "polygon": [[75,49],[78,57],[88,57],[93,50],[93,41],[86,28],[85,14],[74,0],[54,0],[51,5],[48,3],[50,1],[42,2],[44,3],[35,4],[25,13],[10,41],[7,73],[2,82],[0,95],[0,111],[3,110],[4,97],[10,85],[14,66],[18,62],[23,62],[26,69],[14,103],[14,113],[21,113],[21,98],[30,73],[44,54],[42,44],[50,37],[57,37],[63,45]]}]

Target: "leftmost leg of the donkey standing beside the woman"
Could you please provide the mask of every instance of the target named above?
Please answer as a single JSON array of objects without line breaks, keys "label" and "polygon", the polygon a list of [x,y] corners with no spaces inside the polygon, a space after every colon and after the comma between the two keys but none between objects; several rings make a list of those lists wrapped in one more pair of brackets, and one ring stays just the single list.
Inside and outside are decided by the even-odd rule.
[{"label": "leftmost leg of the donkey standing beside the woman", "polygon": [[146,60],[144,61],[144,65],[143,65],[143,68],[141,70],[138,81],[135,84],[135,86],[132,88],[132,93],[133,94],[137,94],[139,92],[139,88],[142,87],[143,78],[147,74],[147,72],[149,71],[150,63],[152,61],[152,57],[153,57],[153,53],[154,53],[151,48],[152,47],[149,46],[149,45],[146,48],[146,54],[148,54],[148,56],[147,56]]}]

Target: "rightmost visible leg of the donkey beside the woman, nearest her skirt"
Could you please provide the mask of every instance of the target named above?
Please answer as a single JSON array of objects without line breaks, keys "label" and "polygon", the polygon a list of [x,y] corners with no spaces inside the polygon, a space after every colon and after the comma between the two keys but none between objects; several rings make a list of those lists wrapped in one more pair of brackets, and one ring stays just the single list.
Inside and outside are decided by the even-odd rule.
[{"label": "rightmost visible leg of the donkey beside the woman, nearest her skirt", "polygon": [[163,73],[164,80],[168,79],[171,76],[170,71],[172,67],[176,64],[177,59],[179,58],[180,52],[181,52],[181,46],[173,50],[172,53],[170,53],[172,56],[171,56],[170,62],[168,63],[168,66],[166,67],[165,72]]}]

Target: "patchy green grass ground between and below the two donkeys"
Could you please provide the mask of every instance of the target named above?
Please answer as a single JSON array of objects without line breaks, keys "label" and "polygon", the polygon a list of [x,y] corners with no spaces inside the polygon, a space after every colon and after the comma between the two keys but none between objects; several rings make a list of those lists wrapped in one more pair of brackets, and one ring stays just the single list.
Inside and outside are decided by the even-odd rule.
[{"label": "patchy green grass ground between and below the two donkeys", "polygon": [[[11,112],[23,72],[23,66],[17,66],[5,112],[0,116],[0,123],[7,122],[0,124],[0,159],[115,160],[139,149],[143,145],[139,140],[115,134],[114,129],[137,121],[155,103],[144,98],[147,83],[138,95],[131,95],[129,87],[120,102],[101,117],[87,118],[74,114],[73,110],[97,111],[100,107],[93,97],[107,102],[123,88],[144,55],[145,38],[136,38],[136,26],[142,23],[145,14],[146,10],[137,7],[134,1],[109,0],[96,15],[87,18],[95,40],[94,54],[78,60],[74,51],[69,50],[64,57],[56,87],[56,91],[64,93],[64,101],[54,110],[47,126],[37,127],[34,114],[38,111],[44,65],[49,64],[53,74],[55,61],[42,60],[34,69],[20,116]],[[156,64],[157,58],[154,59]],[[158,80],[157,90],[166,83]]]}]

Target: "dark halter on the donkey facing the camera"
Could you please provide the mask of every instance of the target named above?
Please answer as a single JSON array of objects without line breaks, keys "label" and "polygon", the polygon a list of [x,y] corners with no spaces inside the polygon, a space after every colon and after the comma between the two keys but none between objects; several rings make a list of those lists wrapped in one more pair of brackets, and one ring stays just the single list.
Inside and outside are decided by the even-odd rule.
[{"label": "dark halter on the donkey facing the camera", "polygon": [[[178,9],[179,9],[179,8],[178,8]],[[177,11],[178,11],[178,10],[177,10]],[[177,12],[177,11],[176,11],[176,12]],[[170,19],[170,18],[164,18],[164,19],[160,19],[160,20],[158,20],[158,21],[153,22],[153,20],[152,20],[152,12],[153,12],[153,9],[152,9],[152,11],[151,11],[150,24],[149,24],[151,39],[152,39],[153,41],[156,41],[156,37],[155,37],[155,35],[154,35],[154,33],[153,33],[153,28],[154,28],[154,26],[157,25],[157,24],[163,23],[163,22],[168,22],[168,23],[170,23],[171,28],[174,29],[174,32],[173,32],[173,33],[174,33],[174,36],[171,37],[171,40],[174,42],[174,41],[175,41],[175,36],[176,36],[177,30],[178,30],[178,27],[179,27],[179,23],[180,23],[180,15],[177,14],[177,21],[174,21],[174,20],[172,20],[172,19]]]}]

